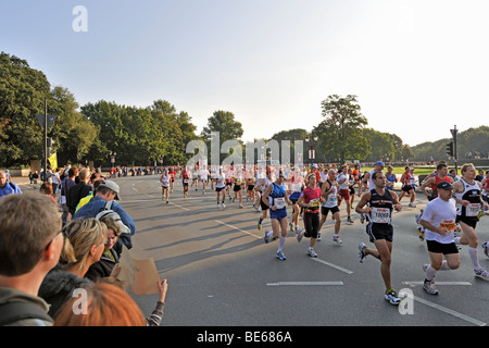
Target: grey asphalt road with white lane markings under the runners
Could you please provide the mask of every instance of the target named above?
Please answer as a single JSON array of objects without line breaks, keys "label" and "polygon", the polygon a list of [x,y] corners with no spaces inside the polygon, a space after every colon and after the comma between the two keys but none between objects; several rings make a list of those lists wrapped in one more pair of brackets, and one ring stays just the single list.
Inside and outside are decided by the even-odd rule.
[{"label": "grey asphalt road with white lane markings under the runners", "polygon": [[[467,247],[461,250],[461,266],[438,272],[438,296],[422,289],[423,264],[428,263],[425,243],[415,231],[414,214],[427,200],[418,194],[417,208],[393,215],[392,285],[412,294],[399,307],[384,299],[380,262],[358,260],[360,243],[368,243],[365,226],[353,213],[346,223],[341,207],[342,245],[331,241],[334,222],[328,216],[318,254],[306,254],[309,239],[299,244],[289,232],[284,248],[286,261],[275,258],[277,241],[264,244],[264,231],[256,229],[259,213],[244,200],[226,200],[216,208],[215,192],[203,196],[190,190],[184,199],[177,181],[170,204],[161,199],[158,175],[115,179],[121,186],[121,204],[137,226],[131,254],[153,258],[162,278],[168,281],[163,326],[482,326],[489,323],[489,282],[476,278]],[[423,196],[423,197],[422,197]],[[356,198],[356,201],[359,198]],[[291,209],[289,209],[289,216]],[[300,220],[302,225],[302,220]],[[489,216],[477,226],[479,245],[489,240]],[[489,259],[479,246],[480,264]],[[146,314],[158,295],[133,298]]]}]

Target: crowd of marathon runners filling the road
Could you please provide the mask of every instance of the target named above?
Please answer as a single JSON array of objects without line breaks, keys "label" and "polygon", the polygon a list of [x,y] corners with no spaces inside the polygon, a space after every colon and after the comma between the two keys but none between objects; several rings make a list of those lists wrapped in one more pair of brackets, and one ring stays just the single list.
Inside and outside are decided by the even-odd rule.
[{"label": "crowd of marathon runners filling the road", "polygon": [[[163,174],[160,182],[163,187],[162,199],[168,202],[168,182],[174,181],[174,174]],[[252,203],[260,213],[256,228],[262,229],[263,222],[269,216],[271,229],[264,232],[264,243],[278,240],[275,257],[287,260],[284,247],[288,231],[297,234],[301,243],[309,238],[308,254],[316,258],[314,246],[321,240],[322,227],[330,213],[334,220],[333,243],[342,244],[341,203],[347,211],[346,222],[354,224],[352,211],[360,214],[360,222],[366,223],[366,233],[375,249],[365,244],[359,245],[359,260],[373,256],[380,261],[380,273],[386,286],[385,298],[392,304],[399,304],[401,299],[390,283],[390,262],[393,240],[392,211],[401,211],[401,200],[409,197],[408,209],[416,208],[416,188],[419,188],[429,203],[419,213],[413,213],[418,238],[426,239],[430,264],[424,264],[425,282],[423,288],[431,295],[437,295],[435,273],[440,270],[459,268],[459,250],[467,245],[476,277],[488,281],[489,274],[478,261],[479,246],[475,232],[477,222],[488,214],[489,171],[478,171],[473,164],[465,164],[462,175],[455,175],[454,170],[448,170],[446,162],[438,163],[437,169],[427,175],[423,183],[414,174],[414,169],[405,166],[398,177],[392,166],[385,169],[383,161],[374,163],[374,169],[364,171],[360,164],[353,165],[317,165],[310,167],[260,167],[254,166],[195,166],[184,169],[179,178],[183,179],[185,197],[191,190],[206,188],[215,191],[218,209],[226,208],[227,202],[239,200],[242,209],[243,200]],[[400,195],[393,190],[400,183]],[[359,202],[355,203],[355,196]],[[289,211],[291,219],[289,220]],[[302,219],[300,219],[302,217]],[[300,226],[302,220],[302,226]],[[460,236],[459,236],[460,234]],[[489,257],[488,243],[481,245],[484,253]],[[444,256],[446,260],[442,260]]]}]

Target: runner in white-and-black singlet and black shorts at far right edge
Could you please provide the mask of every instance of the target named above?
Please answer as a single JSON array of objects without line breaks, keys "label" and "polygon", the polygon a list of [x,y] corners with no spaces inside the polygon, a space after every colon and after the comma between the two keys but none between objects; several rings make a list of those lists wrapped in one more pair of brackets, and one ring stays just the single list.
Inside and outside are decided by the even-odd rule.
[{"label": "runner in white-and-black singlet and black shorts at far right edge", "polygon": [[474,265],[475,276],[489,281],[489,274],[479,264],[477,256],[478,239],[475,232],[479,220],[481,206],[487,210],[489,206],[481,199],[481,183],[475,179],[476,169],[472,163],[462,166],[462,177],[453,184],[455,188],[456,222],[462,227],[462,237],[455,237],[455,243],[468,245],[468,254]]}]

